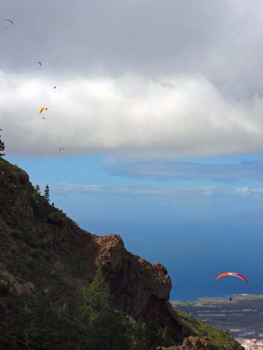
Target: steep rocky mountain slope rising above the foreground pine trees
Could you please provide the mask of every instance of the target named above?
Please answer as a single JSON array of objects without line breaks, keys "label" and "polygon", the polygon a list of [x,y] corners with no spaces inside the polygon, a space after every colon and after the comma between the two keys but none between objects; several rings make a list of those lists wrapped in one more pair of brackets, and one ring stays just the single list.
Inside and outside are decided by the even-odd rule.
[{"label": "steep rocky mountain slope rising above the foreground pine trees", "polygon": [[128,252],[119,235],[96,236],[79,228],[34,190],[24,170],[3,158],[0,238],[0,323],[5,319],[0,332],[1,326],[3,332],[12,327],[16,311],[7,296],[31,298],[46,290],[78,305],[81,287],[102,267],[117,309],[166,325],[182,342],[181,318],[168,301],[172,285],[166,268]]}]

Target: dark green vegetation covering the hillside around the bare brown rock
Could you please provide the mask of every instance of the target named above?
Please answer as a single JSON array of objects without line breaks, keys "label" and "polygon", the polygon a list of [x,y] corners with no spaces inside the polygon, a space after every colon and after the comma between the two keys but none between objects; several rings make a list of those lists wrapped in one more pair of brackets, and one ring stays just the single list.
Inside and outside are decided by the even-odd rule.
[{"label": "dark green vegetation covering the hillside around the bare brown rock", "polygon": [[[136,322],[115,309],[103,271],[94,277],[92,251],[87,254],[90,233],[50,205],[28,174],[2,157],[0,226],[0,268],[18,288],[0,274],[1,349],[153,350],[172,343],[167,328],[162,333],[152,321]],[[126,277],[128,287],[136,285],[129,268]],[[236,344],[180,314],[186,336],[206,336],[211,349]]]}]

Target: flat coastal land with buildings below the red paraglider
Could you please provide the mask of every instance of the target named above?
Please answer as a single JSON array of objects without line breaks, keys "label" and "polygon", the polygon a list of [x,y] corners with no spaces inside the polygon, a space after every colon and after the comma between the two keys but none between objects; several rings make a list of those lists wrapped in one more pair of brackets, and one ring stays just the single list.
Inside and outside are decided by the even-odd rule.
[{"label": "flat coastal land with buildings below the red paraglider", "polygon": [[228,297],[200,297],[171,304],[209,325],[227,330],[247,349],[263,349],[263,294],[233,295],[231,301]]}]

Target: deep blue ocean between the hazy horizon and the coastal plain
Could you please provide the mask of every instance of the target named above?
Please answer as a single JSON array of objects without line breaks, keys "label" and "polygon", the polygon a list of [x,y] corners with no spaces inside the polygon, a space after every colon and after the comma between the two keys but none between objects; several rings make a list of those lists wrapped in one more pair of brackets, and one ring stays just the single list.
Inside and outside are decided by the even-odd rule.
[{"label": "deep blue ocean between the hazy horizon and the coastal plain", "polygon": [[[96,234],[118,233],[127,250],[163,264],[171,277],[170,300],[263,294],[263,228],[260,223],[147,223],[79,221]],[[248,279],[216,276],[237,272]]]}]

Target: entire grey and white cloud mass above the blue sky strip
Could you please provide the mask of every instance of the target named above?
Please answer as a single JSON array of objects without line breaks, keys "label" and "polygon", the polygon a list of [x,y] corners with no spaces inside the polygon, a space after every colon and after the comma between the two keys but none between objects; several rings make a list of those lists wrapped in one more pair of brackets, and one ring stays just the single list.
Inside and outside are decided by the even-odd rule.
[{"label": "entire grey and white cloud mass above the blue sky strip", "polygon": [[262,10],[259,0],[3,2],[1,19],[14,21],[0,20],[9,151],[30,154],[46,137],[47,154],[262,151]]}]

